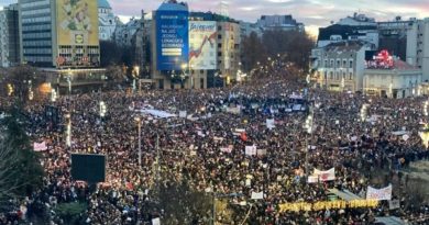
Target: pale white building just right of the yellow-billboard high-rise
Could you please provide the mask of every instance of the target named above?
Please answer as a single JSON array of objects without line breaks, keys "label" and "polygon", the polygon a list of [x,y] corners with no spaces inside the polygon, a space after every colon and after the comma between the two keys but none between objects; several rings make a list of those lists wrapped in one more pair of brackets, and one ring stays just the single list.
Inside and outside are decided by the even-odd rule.
[{"label": "pale white building just right of the yellow-billboard high-rise", "polygon": [[107,0],[98,0],[98,35],[101,41],[111,41],[117,27],[118,18]]}]

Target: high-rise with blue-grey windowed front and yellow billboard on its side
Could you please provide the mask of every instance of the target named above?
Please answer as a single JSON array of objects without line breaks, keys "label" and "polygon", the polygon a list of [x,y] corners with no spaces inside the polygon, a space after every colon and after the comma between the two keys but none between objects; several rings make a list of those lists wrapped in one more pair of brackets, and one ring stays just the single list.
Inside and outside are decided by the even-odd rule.
[{"label": "high-rise with blue-grey windowed front and yellow billboard on its side", "polygon": [[99,65],[98,3],[19,0],[21,60],[37,67]]}]

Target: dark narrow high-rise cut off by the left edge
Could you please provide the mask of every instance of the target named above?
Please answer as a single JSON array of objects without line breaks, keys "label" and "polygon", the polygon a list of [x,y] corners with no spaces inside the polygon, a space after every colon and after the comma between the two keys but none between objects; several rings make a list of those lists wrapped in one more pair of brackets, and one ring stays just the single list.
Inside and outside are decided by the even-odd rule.
[{"label": "dark narrow high-rise cut off by the left edge", "polygon": [[0,11],[0,67],[20,63],[18,23],[18,4],[11,4]]}]

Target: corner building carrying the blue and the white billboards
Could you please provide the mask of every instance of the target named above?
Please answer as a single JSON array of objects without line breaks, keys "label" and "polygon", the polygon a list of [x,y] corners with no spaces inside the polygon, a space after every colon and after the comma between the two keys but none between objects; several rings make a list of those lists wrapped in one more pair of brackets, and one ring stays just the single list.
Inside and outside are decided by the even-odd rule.
[{"label": "corner building carrying the blue and the white billboards", "polygon": [[[160,46],[163,48],[163,43],[182,43],[182,40],[177,40],[177,37],[183,34],[160,34],[158,27],[165,27],[164,25],[168,25],[168,23],[155,19],[168,14],[168,11],[186,10],[187,5],[183,3],[163,3],[157,11],[152,13],[151,25],[144,26],[151,27],[148,35],[151,78],[154,80],[155,87],[160,89],[206,89],[238,80],[241,30],[239,22],[228,16],[189,12],[188,34],[184,34],[188,36],[188,43],[183,45],[184,48],[157,49]],[[160,11],[163,13],[162,15],[157,14]],[[169,38],[172,36],[173,40]],[[185,52],[188,53],[186,57],[184,57]],[[175,63],[165,67],[166,59],[160,57],[160,54],[177,55],[177,57]],[[184,60],[185,58],[186,60]]]}]

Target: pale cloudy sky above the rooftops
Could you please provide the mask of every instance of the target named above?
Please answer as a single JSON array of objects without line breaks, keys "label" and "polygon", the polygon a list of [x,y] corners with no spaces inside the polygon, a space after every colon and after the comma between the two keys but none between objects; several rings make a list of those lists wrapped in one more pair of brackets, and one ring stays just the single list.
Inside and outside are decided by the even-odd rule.
[{"label": "pale cloudy sky above the rooftops", "polygon": [[[0,7],[15,0],[0,0]],[[118,15],[140,15],[141,10],[155,10],[163,0],[109,0]],[[188,0],[193,11],[220,11],[220,0]],[[429,0],[224,0],[231,18],[255,22],[262,14],[292,14],[310,31],[330,21],[365,13],[376,20],[429,18]]]}]

